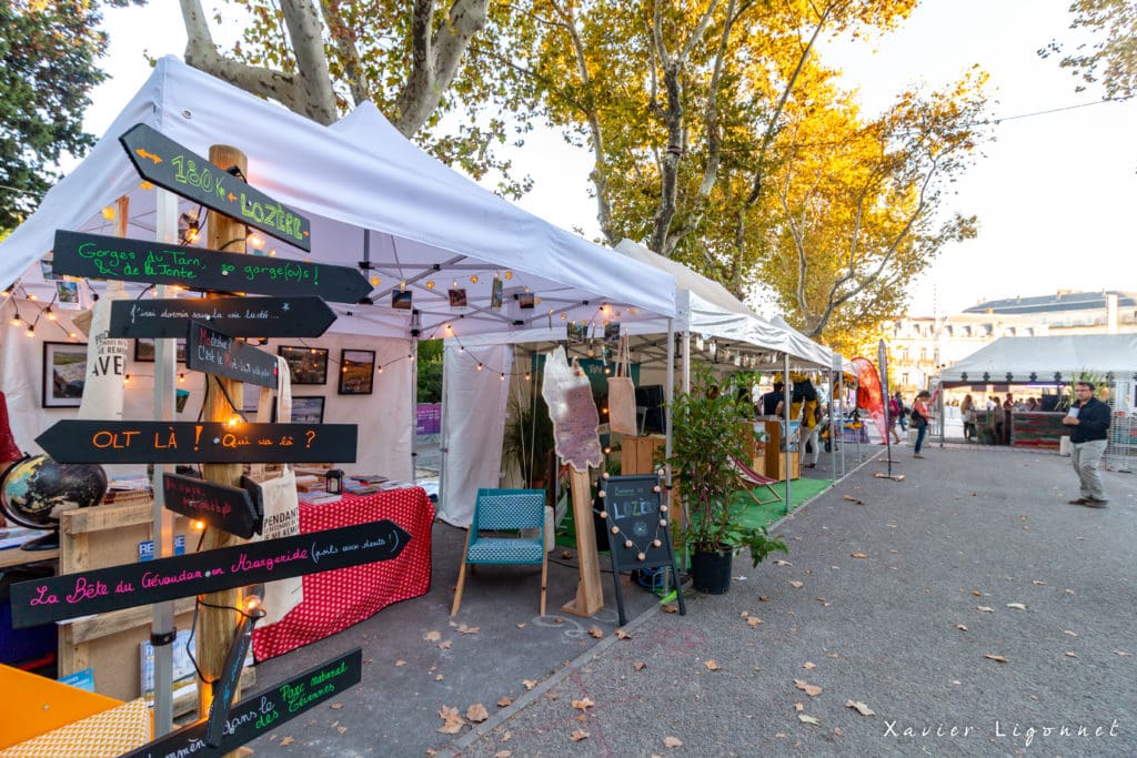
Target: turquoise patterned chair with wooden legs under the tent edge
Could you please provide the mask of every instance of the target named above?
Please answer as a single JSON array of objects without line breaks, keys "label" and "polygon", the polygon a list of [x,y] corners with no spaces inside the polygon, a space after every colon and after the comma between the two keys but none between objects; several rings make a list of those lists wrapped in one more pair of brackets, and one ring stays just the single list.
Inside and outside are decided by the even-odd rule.
[{"label": "turquoise patterned chair with wooden legs under the tent edge", "polygon": [[[538,530],[536,539],[482,532]],[[545,490],[478,490],[474,517],[466,534],[466,549],[458,572],[450,615],[458,613],[462,589],[466,582],[466,565],[541,565],[541,616],[545,615],[545,589],[548,580],[548,553],[545,550]]]}]

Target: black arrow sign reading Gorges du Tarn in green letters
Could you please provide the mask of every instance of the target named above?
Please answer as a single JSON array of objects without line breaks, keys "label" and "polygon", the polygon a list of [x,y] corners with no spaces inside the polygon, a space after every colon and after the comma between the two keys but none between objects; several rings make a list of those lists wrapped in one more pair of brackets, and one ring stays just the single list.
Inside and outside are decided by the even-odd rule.
[{"label": "black arrow sign reading Gorges du Tarn in green letters", "polygon": [[56,232],[51,270],[85,278],[177,284],[207,292],[312,294],[329,302],[358,302],[372,290],[359,269],[349,266],[215,252],[64,230]]}]

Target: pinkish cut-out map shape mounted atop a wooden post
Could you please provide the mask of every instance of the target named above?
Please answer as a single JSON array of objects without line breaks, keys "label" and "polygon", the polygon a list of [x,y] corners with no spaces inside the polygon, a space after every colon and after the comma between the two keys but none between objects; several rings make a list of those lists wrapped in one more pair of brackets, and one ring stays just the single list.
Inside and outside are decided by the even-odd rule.
[{"label": "pinkish cut-out map shape mounted atop a wooden post", "polygon": [[600,414],[588,376],[568,365],[564,348],[557,347],[545,360],[541,397],[549,407],[557,455],[578,472],[604,463],[597,428]]}]

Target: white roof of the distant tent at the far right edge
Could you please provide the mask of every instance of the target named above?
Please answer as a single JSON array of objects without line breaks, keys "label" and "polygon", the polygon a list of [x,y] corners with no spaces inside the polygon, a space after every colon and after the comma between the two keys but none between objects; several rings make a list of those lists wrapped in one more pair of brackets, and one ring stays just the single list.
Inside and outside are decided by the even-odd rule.
[{"label": "white roof of the distant tent at the far right edge", "polygon": [[[1129,376],[1137,373],[1137,334],[1004,336],[940,373],[944,384],[1069,380],[1090,370]],[[984,374],[989,380],[984,380]],[[1007,374],[1011,380],[1007,380]]]}]

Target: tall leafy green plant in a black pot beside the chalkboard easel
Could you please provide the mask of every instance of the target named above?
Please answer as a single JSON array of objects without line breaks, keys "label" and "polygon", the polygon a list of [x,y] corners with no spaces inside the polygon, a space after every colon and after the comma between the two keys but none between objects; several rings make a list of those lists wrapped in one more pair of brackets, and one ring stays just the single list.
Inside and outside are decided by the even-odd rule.
[{"label": "tall leafy green plant in a black pot beside the chalkboard easel", "polygon": [[671,403],[672,455],[666,459],[672,481],[687,506],[680,540],[691,550],[691,578],[696,590],[721,594],[730,588],[736,550],[748,548],[757,566],[771,552],[789,552],[765,527],[739,522],[731,509],[735,493],[745,488],[731,460],[746,460],[742,414],[737,393],[707,369],[697,373],[697,386]]}]

